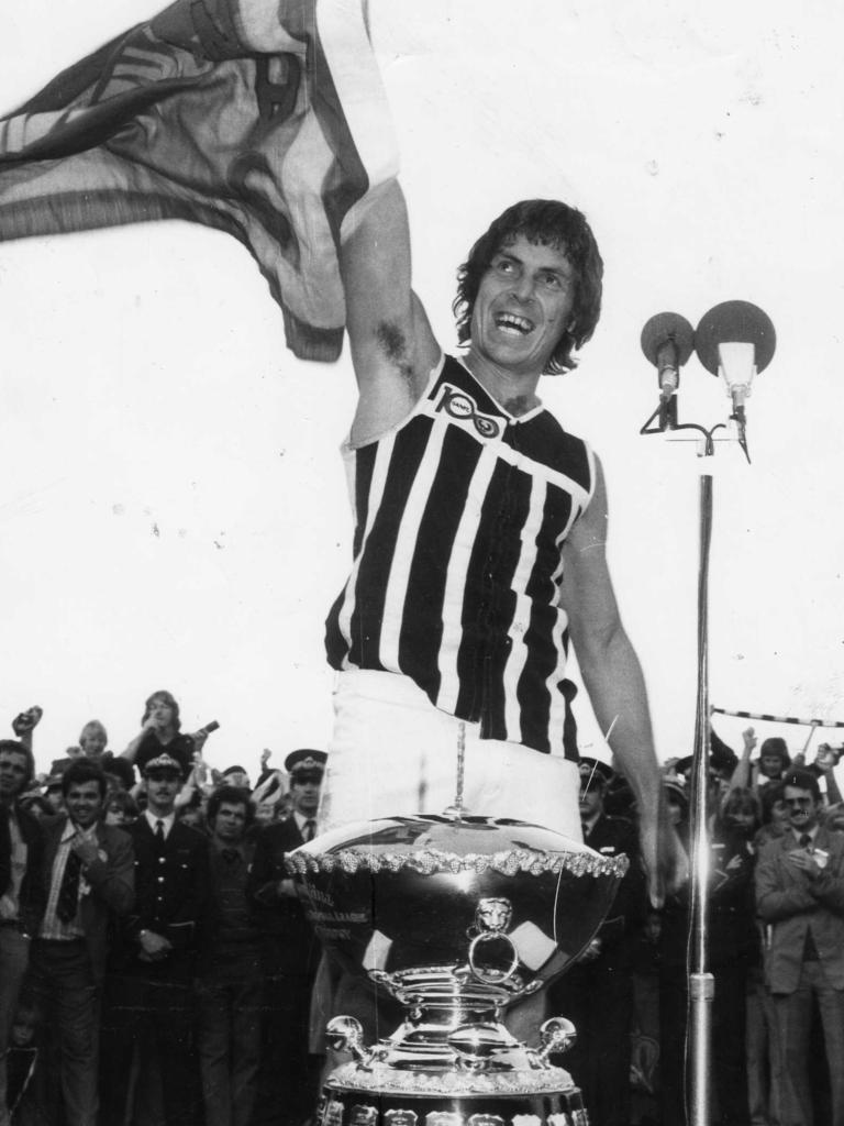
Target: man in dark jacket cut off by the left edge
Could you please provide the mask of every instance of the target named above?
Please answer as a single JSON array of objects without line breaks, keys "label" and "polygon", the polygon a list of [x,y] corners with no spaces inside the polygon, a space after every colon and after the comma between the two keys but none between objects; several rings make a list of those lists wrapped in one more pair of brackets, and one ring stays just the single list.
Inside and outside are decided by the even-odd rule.
[{"label": "man in dark jacket cut off by the left edge", "polygon": [[0,1126],[9,1126],[6,1056],[30,938],[44,912],[41,828],[19,804],[34,775],[30,748],[14,739],[0,740]]}]

